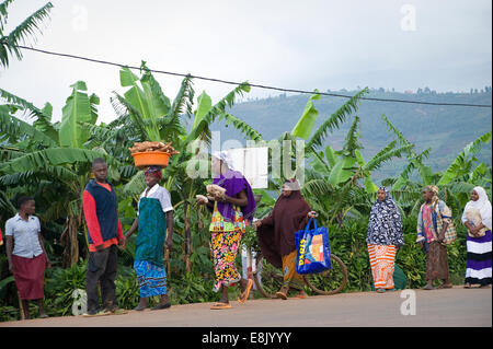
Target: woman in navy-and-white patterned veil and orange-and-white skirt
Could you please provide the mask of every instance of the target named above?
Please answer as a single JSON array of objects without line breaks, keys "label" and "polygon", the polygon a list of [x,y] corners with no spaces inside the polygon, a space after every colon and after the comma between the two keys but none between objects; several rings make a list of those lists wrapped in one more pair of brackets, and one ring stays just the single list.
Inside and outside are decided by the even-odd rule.
[{"label": "woman in navy-and-white patterned veil and orange-and-white skirt", "polygon": [[386,187],[380,187],[371,207],[368,222],[368,254],[375,290],[393,290],[393,270],[397,248],[404,244],[401,214]]}]

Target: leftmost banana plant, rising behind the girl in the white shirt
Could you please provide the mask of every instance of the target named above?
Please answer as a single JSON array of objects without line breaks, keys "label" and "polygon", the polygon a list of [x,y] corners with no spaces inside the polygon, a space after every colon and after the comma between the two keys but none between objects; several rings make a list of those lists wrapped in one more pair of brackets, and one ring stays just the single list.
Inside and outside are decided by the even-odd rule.
[{"label": "leftmost banana plant, rising behind the girl in the white shirt", "polygon": [[[0,135],[8,144],[0,154],[0,187],[15,196],[19,190],[35,193],[41,200],[51,198],[49,208],[39,213],[45,221],[66,219],[60,241],[65,242],[64,265],[70,267],[79,259],[79,231],[82,223],[82,191],[90,178],[91,162],[104,158],[108,163],[108,176],[119,181],[119,162],[102,149],[85,144],[90,138],[84,124],[94,125],[98,119],[99,98],[87,93],[87,85],[78,81],[62,108],[61,121],[51,124],[51,107],[43,109],[2,91],[8,104],[0,105]],[[12,112],[30,112],[36,118],[33,125],[16,118]],[[46,185],[49,183],[49,186]],[[12,189],[18,186],[18,189]],[[62,197],[62,199],[60,199]],[[85,235],[85,234],[84,234]]]}]

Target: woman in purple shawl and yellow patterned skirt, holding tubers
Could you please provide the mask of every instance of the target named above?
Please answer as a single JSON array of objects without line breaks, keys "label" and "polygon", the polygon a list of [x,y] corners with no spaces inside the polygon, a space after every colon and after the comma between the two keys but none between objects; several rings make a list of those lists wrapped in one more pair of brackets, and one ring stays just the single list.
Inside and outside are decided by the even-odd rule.
[{"label": "woman in purple shawl and yellow patterned skirt, holding tubers", "polygon": [[229,309],[228,288],[239,283],[241,294],[238,301],[244,303],[252,288],[252,280],[241,277],[234,266],[241,235],[246,224],[252,224],[256,210],[255,198],[249,182],[243,175],[231,170],[227,152],[213,154],[214,184],[226,189],[221,198],[205,200],[197,198],[199,205],[206,205],[213,212],[209,231],[215,267],[214,291],[221,290],[221,299],[211,309]]}]

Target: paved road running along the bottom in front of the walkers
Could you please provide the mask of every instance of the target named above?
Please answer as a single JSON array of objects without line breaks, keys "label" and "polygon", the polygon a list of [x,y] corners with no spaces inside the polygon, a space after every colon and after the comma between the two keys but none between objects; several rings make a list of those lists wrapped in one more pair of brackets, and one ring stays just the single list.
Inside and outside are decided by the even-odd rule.
[{"label": "paved road running along the bottom in front of the walkers", "polygon": [[[383,294],[342,293],[306,300],[231,302],[232,309],[209,310],[211,303],[175,305],[163,311],[130,311],[101,317],[66,316],[0,323],[0,327],[352,327],[352,326],[492,326],[492,290],[455,287],[413,291],[415,315],[402,315],[412,298],[401,291]],[[404,298],[401,298],[404,296]]]}]

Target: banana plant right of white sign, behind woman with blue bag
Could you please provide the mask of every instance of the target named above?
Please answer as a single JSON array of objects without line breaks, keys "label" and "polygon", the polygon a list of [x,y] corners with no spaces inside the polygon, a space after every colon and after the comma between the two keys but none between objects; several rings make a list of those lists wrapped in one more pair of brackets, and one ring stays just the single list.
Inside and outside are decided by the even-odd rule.
[{"label": "banana plant right of white sign, behind woman with blue bag", "polygon": [[344,217],[349,211],[352,214],[360,216],[360,209],[367,209],[371,205],[371,198],[378,191],[378,187],[371,179],[371,172],[389,160],[402,156],[413,148],[412,144],[397,148],[397,141],[392,141],[365,162],[360,152],[363,146],[359,142],[359,117],[354,116],[343,149],[336,151],[326,144],[324,151],[318,150],[326,143],[328,133],[337,129],[358,109],[359,101],[366,93],[368,89],[356,93],[324,120],[310,137],[319,115],[313,101],[319,100],[320,94],[316,91],[291,131],[293,137],[308,140],[305,152],[310,166],[306,168],[308,181],[301,188],[301,193],[320,212],[322,221],[328,223],[336,219],[342,225]]}]

